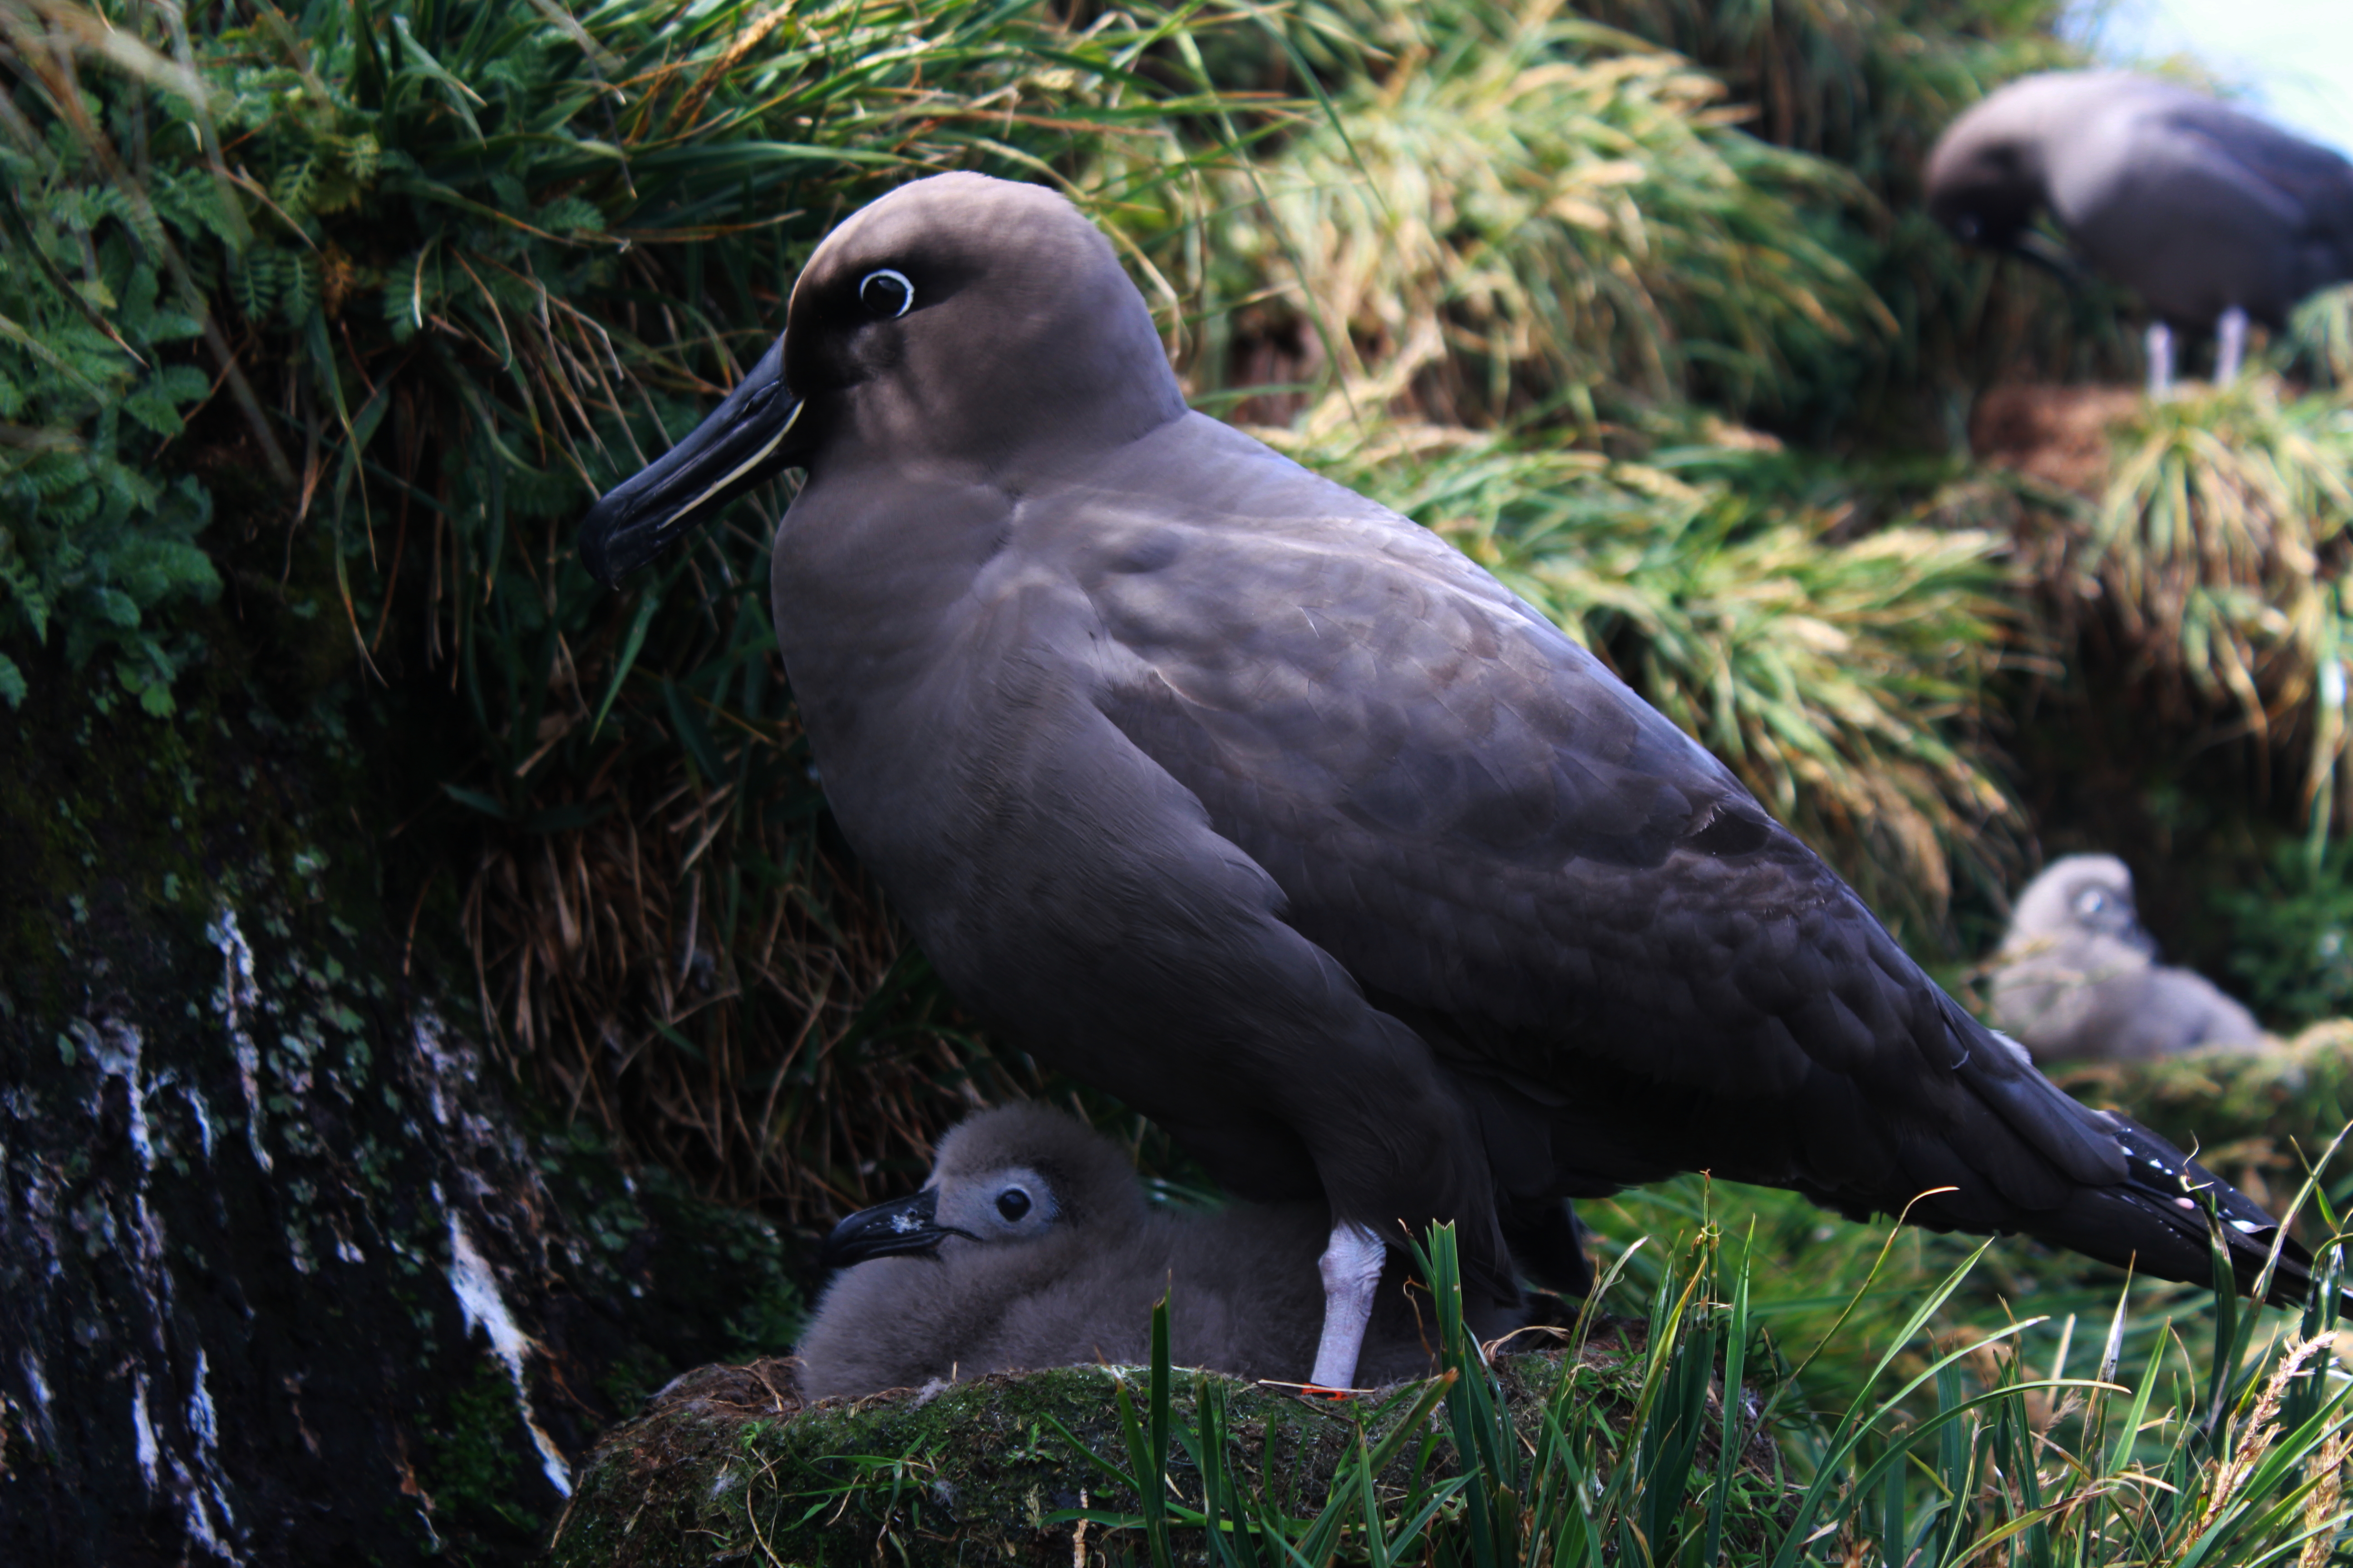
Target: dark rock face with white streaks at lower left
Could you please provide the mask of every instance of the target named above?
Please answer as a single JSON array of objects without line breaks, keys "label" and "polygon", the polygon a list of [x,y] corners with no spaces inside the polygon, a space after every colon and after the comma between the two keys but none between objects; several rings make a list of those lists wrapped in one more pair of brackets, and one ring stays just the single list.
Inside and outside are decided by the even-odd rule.
[{"label": "dark rock face with white streaks at lower left", "polygon": [[779,1239],[518,1105],[358,703],[214,630],[172,719],[56,661],[0,724],[0,1561],[529,1556],[614,1415],[788,1342]]}]

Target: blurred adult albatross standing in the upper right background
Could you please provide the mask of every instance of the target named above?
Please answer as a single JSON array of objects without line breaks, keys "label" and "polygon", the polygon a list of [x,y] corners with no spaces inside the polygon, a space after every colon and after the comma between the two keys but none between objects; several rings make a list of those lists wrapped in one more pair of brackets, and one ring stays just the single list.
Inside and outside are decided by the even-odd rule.
[{"label": "blurred adult albatross standing in the upper right background", "polygon": [[1937,139],[1927,209],[1962,240],[2068,270],[2031,228],[2042,207],[2155,313],[2153,397],[2172,383],[2174,327],[2214,327],[2226,383],[2249,317],[2282,327],[2306,294],[2353,277],[2353,165],[2146,75],[2031,75]]}]

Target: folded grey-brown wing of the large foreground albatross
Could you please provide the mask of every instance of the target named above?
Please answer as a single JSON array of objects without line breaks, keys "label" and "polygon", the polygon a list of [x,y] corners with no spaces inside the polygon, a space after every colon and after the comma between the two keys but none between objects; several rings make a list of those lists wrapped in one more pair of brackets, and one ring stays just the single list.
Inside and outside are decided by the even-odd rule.
[{"label": "folded grey-brown wing of the large foreground albatross", "polygon": [[1144,555],[1129,510],[1155,536],[1151,571],[1080,574],[1106,717],[1367,994],[1546,1103],[1565,1190],[1965,1185],[1958,1222],[2115,1178],[2113,1138],[1593,654],[1273,454],[1200,468],[1240,494],[1080,503],[1104,562]]}]

